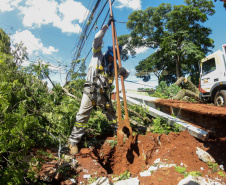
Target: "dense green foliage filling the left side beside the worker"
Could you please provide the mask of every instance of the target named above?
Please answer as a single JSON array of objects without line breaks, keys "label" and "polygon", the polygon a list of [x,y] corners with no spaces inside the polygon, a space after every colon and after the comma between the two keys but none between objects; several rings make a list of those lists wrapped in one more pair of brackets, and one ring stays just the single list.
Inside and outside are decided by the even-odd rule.
[{"label": "dense green foliage filling the left side beside the worker", "polygon": [[[0,179],[3,184],[25,184],[25,179],[35,181],[36,172],[23,161],[24,156],[34,146],[58,147],[59,141],[49,133],[66,142],[80,102],[65,95],[59,84],[48,89],[42,81],[49,74],[47,65],[40,62],[28,68],[20,66],[27,58],[26,51],[17,45],[15,51],[9,52],[7,38],[1,32]],[[83,83],[77,80],[66,88],[81,98]],[[41,158],[33,160],[42,163]]]}]

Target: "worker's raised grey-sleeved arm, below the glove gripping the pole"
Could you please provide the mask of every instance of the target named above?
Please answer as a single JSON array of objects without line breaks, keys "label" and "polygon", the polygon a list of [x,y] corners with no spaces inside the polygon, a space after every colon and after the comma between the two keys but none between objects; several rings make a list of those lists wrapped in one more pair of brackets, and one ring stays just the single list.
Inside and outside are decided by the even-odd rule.
[{"label": "worker's raised grey-sleeved arm, below the glove gripping the pole", "polygon": [[104,25],[95,35],[95,38],[93,40],[93,54],[97,54],[101,51],[101,45],[103,41],[103,37],[108,29],[108,25]]}]

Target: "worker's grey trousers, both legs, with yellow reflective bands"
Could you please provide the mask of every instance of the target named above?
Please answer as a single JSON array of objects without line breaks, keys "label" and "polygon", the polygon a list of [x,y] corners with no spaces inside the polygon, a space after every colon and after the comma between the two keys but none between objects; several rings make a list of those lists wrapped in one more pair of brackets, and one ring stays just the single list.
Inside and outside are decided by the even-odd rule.
[{"label": "worker's grey trousers, both legs, with yellow reflective bands", "polygon": [[[90,93],[90,87],[84,88],[85,92]],[[97,100],[97,105],[101,108],[105,108],[106,97],[101,93],[94,93],[94,99]],[[73,144],[77,144],[81,141],[82,136],[85,133],[86,127],[88,126],[88,121],[93,110],[93,105],[86,93],[83,93],[82,101],[80,105],[79,112],[76,115],[76,122],[72,129],[71,135],[69,136],[69,141]],[[111,109],[107,109],[105,112],[109,123],[116,124],[116,115]]]}]

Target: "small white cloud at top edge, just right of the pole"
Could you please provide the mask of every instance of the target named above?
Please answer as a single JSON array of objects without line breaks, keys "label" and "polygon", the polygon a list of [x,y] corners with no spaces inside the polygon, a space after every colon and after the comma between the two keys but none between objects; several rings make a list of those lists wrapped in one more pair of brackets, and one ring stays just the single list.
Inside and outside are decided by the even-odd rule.
[{"label": "small white cloud at top edge, just right of the pole", "polygon": [[117,0],[116,8],[131,8],[141,10],[141,0]]}]

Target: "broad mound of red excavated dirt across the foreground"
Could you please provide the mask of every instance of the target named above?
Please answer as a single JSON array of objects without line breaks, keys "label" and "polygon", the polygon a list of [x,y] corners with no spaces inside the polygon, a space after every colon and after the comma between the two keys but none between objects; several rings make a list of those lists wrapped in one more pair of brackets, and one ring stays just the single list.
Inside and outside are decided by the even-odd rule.
[{"label": "broad mound of red excavated dirt across the foreground", "polygon": [[[202,176],[217,177],[226,183],[225,178],[213,172],[198,158],[196,147],[208,150],[187,131],[169,135],[136,135],[131,147],[127,141],[120,147],[116,144],[116,138],[109,137],[103,145],[82,149],[76,156],[77,182],[87,184],[86,175],[92,178],[105,176],[113,181],[114,177],[128,170],[131,177],[139,178],[140,184],[178,184],[184,178],[182,173],[175,171],[175,166],[180,166],[184,167],[186,172],[198,171]],[[150,167],[158,170],[151,171],[151,176],[141,177],[140,173]]]}]

